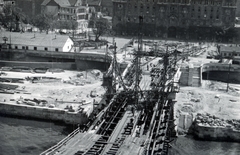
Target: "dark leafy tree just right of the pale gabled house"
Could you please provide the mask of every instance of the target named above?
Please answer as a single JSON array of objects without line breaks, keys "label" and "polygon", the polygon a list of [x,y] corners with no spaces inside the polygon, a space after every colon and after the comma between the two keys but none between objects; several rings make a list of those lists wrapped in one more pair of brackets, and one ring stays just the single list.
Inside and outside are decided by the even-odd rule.
[{"label": "dark leafy tree just right of the pale gabled house", "polygon": [[89,21],[89,26],[93,28],[95,41],[99,41],[100,36],[108,33],[111,28],[110,22],[104,18],[92,18]]}]

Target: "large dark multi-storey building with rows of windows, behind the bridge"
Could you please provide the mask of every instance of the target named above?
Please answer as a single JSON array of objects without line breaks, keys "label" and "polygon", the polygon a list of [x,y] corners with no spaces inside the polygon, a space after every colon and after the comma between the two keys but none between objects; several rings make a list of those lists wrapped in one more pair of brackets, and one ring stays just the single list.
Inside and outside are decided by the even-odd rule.
[{"label": "large dark multi-storey building with rows of windows, behind the bridge", "polygon": [[234,27],[237,0],[113,0],[113,29],[144,35],[213,39]]}]

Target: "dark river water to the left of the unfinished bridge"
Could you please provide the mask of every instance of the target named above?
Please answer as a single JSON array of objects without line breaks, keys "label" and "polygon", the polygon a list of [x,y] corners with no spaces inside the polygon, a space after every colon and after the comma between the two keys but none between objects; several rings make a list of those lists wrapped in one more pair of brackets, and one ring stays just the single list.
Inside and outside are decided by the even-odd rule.
[{"label": "dark river water to the left of the unfinished bridge", "polygon": [[0,155],[38,155],[71,130],[53,122],[0,116]]}]

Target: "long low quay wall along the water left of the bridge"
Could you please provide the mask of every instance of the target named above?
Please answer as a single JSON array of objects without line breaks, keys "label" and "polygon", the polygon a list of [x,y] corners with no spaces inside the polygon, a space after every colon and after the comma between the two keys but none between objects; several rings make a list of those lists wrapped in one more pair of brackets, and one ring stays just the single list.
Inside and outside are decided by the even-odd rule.
[{"label": "long low quay wall along the water left of the bridge", "polygon": [[61,121],[67,124],[84,124],[88,117],[85,113],[71,113],[65,110],[50,109],[0,102],[0,113],[4,115]]}]

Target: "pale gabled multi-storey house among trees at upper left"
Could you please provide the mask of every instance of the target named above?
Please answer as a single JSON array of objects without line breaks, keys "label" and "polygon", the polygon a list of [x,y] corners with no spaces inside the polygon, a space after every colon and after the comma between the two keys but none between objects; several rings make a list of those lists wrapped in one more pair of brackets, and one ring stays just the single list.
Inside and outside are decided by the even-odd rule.
[{"label": "pale gabled multi-storey house among trees at upper left", "polygon": [[86,31],[88,20],[94,8],[88,7],[84,0],[45,0],[42,12],[56,14],[59,20],[76,20],[79,32]]}]

